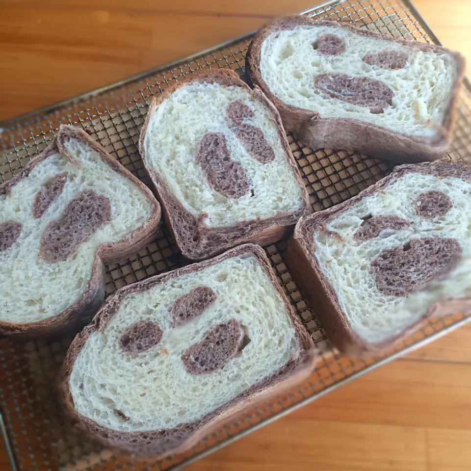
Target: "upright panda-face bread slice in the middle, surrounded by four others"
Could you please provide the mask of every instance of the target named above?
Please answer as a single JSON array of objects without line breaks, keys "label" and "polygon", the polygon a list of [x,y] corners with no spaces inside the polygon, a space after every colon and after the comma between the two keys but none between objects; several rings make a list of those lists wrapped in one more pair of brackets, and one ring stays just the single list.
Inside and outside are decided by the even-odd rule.
[{"label": "upright panda-face bread slice in the middle, surrounded by four others", "polygon": [[311,212],[278,112],[231,70],[197,72],[155,98],[139,148],[189,259],[272,243]]}]

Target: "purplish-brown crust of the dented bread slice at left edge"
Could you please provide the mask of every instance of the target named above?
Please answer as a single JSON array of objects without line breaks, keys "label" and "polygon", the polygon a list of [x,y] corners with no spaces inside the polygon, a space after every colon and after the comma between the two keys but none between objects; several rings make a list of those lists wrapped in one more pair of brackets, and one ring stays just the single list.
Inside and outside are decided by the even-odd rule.
[{"label": "purplish-brown crust of the dented bread slice at left edge", "polygon": [[100,158],[109,165],[116,173],[129,179],[139,190],[144,193],[151,206],[151,218],[147,223],[130,234],[123,237],[117,242],[102,244],[95,251],[95,260],[92,265],[92,272],[88,288],[78,298],[78,300],[70,307],[55,314],[52,317],[31,322],[28,324],[19,324],[13,322],[0,321],[1,335],[21,335],[23,337],[49,337],[67,332],[77,332],[84,324],[86,324],[93,314],[97,312],[103,300],[105,299],[105,265],[122,260],[127,255],[145,247],[154,239],[160,222],[160,206],[152,192],[147,186],[134,177],[131,172],[125,169],[119,162],[111,157],[105,149],[91,139],[85,131],[73,126],[61,126],[56,137],[50,142],[48,147],[12,179],[0,185],[0,195],[8,198],[11,189],[26,178],[31,170],[47,158],[54,154],[60,153],[65,156],[71,163],[80,164],[73,156],[70,155],[64,146],[64,141],[74,138],[91,146],[98,152]]}]

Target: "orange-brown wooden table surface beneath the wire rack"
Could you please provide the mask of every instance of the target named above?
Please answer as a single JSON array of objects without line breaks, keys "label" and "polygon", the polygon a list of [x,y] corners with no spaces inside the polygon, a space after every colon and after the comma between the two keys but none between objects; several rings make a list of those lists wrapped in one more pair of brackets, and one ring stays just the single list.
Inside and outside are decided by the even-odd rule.
[{"label": "orange-brown wooden table surface beneath the wire rack", "polygon": [[[178,59],[315,0],[0,0],[0,121]],[[391,3],[394,3],[391,0]],[[471,1],[415,0],[471,63]],[[199,470],[471,470],[471,326],[324,396]],[[0,470],[7,470],[0,447]]]}]

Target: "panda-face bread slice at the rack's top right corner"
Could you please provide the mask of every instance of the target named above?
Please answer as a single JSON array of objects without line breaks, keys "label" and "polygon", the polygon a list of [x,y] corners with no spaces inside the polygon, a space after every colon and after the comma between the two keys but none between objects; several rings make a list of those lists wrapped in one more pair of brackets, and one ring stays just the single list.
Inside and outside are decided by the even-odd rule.
[{"label": "panda-face bread slice at the rack's top right corner", "polygon": [[449,150],[465,60],[440,46],[292,16],[257,32],[246,68],[305,145],[417,163]]}]

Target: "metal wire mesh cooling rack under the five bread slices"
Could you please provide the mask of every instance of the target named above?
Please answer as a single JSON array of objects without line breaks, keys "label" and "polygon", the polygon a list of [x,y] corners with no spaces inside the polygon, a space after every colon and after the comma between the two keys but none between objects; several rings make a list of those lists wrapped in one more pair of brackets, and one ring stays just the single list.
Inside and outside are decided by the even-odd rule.
[{"label": "metal wire mesh cooling rack under the five bread slices", "polygon": [[[439,43],[437,37],[409,1],[331,1],[304,12],[314,18],[330,18],[380,30],[383,34]],[[60,123],[84,128],[137,177],[145,181],[137,150],[140,127],[152,95],[197,69],[227,67],[244,78],[244,57],[251,35],[179,63],[142,74],[3,123],[0,177],[6,181],[46,147]],[[471,86],[468,81],[458,103],[457,126],[450,159],[471,157]],[[309,149],[288,136],[291,150],[315,210],[325,209],[357,194],[387,175],[391,164],[358,154],[331,149]],[[147,182],[148,183],[148,182]],[[308,381],[279,397],[260,404],[183,455],[156,462],[133,461],[129,456],[88,441],[62,417],[54,399],[55,376],[72,338],[54,341],[0,340],[0,428],[15,470],[175,470],[214,449],[250,433],[300,407],[321,394],[380,366],[393,358],[435,340],[470,318],[461,314],[433,319],[413,337],[396,344],[381,356],[351,360],[329,349],[322,326],[315,318],[289,274],[283,254],[286,242],[265,247],[278,281],[319,346],[322,360]],[[162,223],[156,240],[134,256],[107,266],[106,292],[162,273],[185,263],[174,239]],[[1,416],[0,416],[1,419]]]}]

